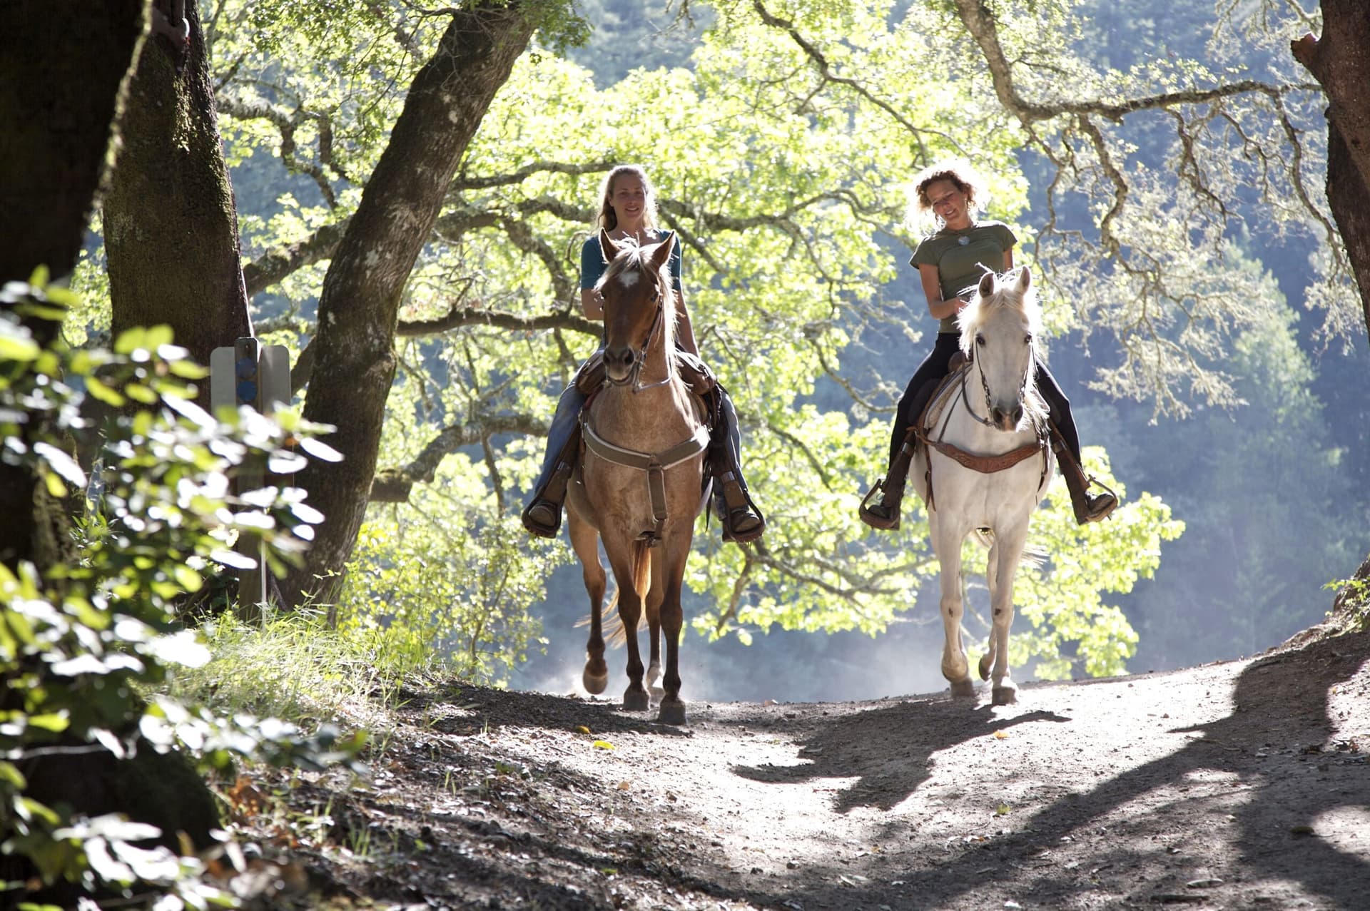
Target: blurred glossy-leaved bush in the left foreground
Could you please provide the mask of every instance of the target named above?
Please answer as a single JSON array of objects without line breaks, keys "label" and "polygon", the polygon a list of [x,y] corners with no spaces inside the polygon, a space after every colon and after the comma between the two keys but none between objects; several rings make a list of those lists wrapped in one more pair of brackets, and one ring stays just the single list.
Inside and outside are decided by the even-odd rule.
[{"label": "blurred glossy-leaved bush in the left foreground", "polygon": [[[7,285],[3,297],[7,310],[29,316],[60,316],[73,303],[68,292],[44,288],[41,275]],[[45,575],[32,563],[0,566],[0,851],[26,858],[49,884],[225,901],[226,893],[200,882],[197,858],[134,844],[156,837],[155,826],[68,818],[26,793],[25,770],[53,752],[126,759],[140,748],[188,749],[219,769],[248,756],[318,766],[356,752],[360,741],[336,730],[306,734],[273,719],[140,697],[175,667],[208,660],[174,607],[218,563],[247,559],[233,555],[234,538],[260,538],[279,564],[299,553],[318,519],[301,492],[238,496],[233,475],[249,462],[295,463],[290,441],[315,451],[322,444],[304,442],[315,429],[299,422],[286,429],[251,411],[219,422],[201,411],[188,381],[206,371],[184,359],[164,327],[126,333],[112,352],[44,349],[7,312],[0,359],[5,462],[27,469],[53,501],[85,501],[74,562]],[[73,447],[97,453],[93,479]]]}]

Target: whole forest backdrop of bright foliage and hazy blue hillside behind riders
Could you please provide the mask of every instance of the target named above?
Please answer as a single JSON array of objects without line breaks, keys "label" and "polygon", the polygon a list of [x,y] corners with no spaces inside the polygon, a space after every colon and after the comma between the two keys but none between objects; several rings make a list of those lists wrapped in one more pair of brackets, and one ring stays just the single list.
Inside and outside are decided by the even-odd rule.
[{"label": "whole forest backdrop of bright foliage and hazy blue hillside behind riders", "polygon": [[[1000,37],[1049,62],[1037,89],[1303,82],[1271,10],[1043,4],[1006,8]],[[418,10],[337,12],[327,29],[234,4],[204,14],[253,322],[293,363],[308,360],[330,260],[271,273],[271,256],[345,225],[440,30]],[[1054,560],[1019,586],[1015,664],[1162,670],[1254,653],[1321,618],[1317,590],[1363,556],[1370,415],[1365,327],[1325,204],[1293,204],[1321,189],[1317,93],[1284,96],[1285,119],[1259,127],[1293,130],[1299,182],[1280,175],[1288,149],[1274,164],[1230,155],[1262,137],[1218,105],[1180,129],[1164,110],[1119,119],[1107,147],[1132,199],[1110,226],[1107,169],[1062,171],[1025,141],[969,38],[948,37],[947,4],[588,0],[580,14],[585,45],[562,56],[534,38],[515,63],[406,285],[377,484],[333,592],[344,626],[384,627],[397,662],[443,653],[486,682],[559,692],[578,675],[578,573],[516,512],[555,396],[595,347],[574,289],[599,181],[641,162],[684,238],[701,349],[738,401],[771,522],[754,549],[722,545],[717,526],[697,534],[690,695],[940,688],[926,525],[882,538],[855,503],[930,333],[904,264],[927,227],[900,223],[907,181],[948,155],[992,175],[991,216],[1045,279],[1049,363],[1091,467],[1128,492],[1115,519],[1075,529],[1058,481],[1036,522]],[[1223,221],[1206,193],[1222,193]],[[64,329],[78,344],[110,325],[97,241],[77,281],[88,310]]]}]

